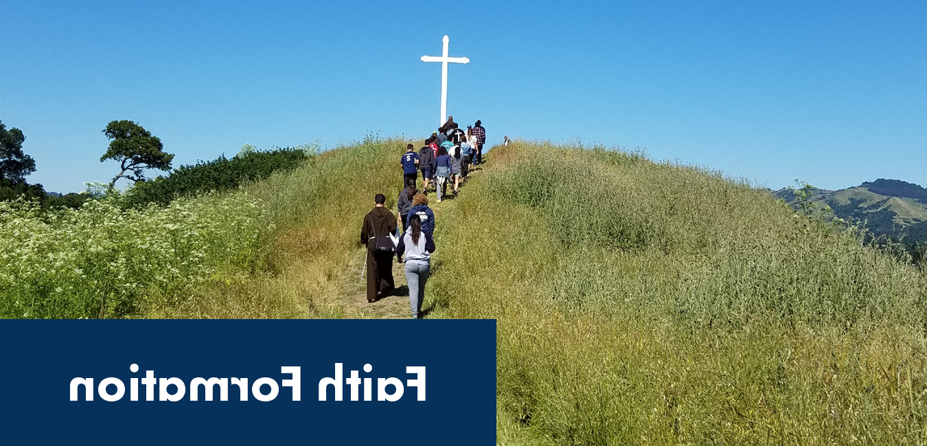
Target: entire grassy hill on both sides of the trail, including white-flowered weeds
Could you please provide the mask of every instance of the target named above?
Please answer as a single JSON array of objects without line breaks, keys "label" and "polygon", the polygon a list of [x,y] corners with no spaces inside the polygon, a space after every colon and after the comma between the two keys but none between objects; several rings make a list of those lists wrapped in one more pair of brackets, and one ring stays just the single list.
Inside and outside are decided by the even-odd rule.
[{"label": "entire grassy hill on both sides of the trail, including white-flowered weeds", "polygon": [[[344,317],[405,141],[123,209],[0,206],[2,317]],[[492,318],[509,444],[923,444],[927,275],[718,172],[519,141],[438,216],[431,318]],[[451,427],[459,428],[459,427]]]}]

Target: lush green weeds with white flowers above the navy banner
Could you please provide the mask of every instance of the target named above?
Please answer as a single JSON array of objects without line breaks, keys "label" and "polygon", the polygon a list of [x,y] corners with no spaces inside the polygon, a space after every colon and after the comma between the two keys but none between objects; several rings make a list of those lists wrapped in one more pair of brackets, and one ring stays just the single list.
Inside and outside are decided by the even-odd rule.
[{"label": "lush green weeds with white flowers above the navy banner", "polygon": [[121,199],[45,212],[0,202],[0,317],[138,317],[261,257],[268,227],[247,194],[139,210]]}]

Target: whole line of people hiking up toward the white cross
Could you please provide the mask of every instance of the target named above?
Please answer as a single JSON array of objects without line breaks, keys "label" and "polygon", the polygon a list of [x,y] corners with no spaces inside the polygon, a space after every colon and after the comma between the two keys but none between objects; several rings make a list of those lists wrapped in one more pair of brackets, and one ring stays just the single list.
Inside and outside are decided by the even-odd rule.
[{"label": "whole line of people hiking up toward the white cross", "polygon": [[[507,137],[506,137],[507,139]],[[476,121],[467,130],[461,129],[453,116],[438,127],[438,132],[425,139],[418,152],[409,144],[400,158],[402,184],[398,210],[402,222],[386,208],[387,198],[377,194],[375,208],[363,220],[361,243],[367,247],[367,301],[375,302],[387,296],[394,288],[392,262],[405,257],[406,283],[409,285],[409,305],[413,319],[422,316],[425,300],[425,282],[431,274],[431,253],[435,252],[435,213],[428,208],[427,193],[435,188],[438,203],[447,197],[451,184],[456,196],[463,180],[474,166],[483,162],[483,145],[486,129]],[[418,175],[422,175],[422,189],[418,189]],[[397,236],[394,236],[397,235]]]}]

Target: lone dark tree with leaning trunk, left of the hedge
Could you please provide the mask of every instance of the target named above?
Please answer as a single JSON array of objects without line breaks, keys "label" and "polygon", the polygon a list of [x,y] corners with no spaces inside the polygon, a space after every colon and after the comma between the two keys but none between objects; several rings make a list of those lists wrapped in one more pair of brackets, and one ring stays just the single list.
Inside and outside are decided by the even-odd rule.
[{"label": "lone dark tree with leaning trunk, left of the hedge", "polygon": [[160,138],[141,125],[133,121],[111,121],[103,133],[112,141],[100,162],[114,159],[121,164],[121,172],[113,177],[109,187],[116,185],[120,178],[128,178],[135,183],[144,181],[146,169],[171,170],[173,155],[164,152]]}]

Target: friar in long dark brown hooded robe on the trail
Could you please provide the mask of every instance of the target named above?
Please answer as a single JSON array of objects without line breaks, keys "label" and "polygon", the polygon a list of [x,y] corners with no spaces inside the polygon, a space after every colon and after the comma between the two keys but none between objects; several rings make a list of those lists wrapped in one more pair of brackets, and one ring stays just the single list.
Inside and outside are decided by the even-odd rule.
[{"label": "friar in long dark brown hooded robe on the trail", "polygon": [[376,207],[363,217],[361,244],[367,247],[367,301],[374,302],[396,287],[393,282],[394,251],[376,248],[376,236],[396,233],[396,216],[384,207],[387,198],[376,194]]}]

